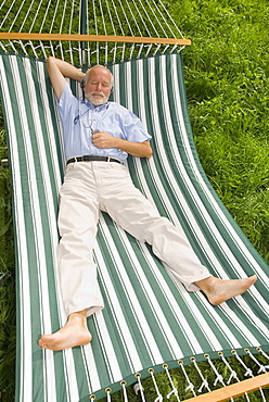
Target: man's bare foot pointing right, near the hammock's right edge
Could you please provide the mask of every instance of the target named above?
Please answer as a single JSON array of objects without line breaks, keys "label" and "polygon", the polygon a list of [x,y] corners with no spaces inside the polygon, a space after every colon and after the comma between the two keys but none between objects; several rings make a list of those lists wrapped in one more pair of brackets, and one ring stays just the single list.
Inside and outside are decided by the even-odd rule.
[{"label": "man's bare foot pointing right, near the hammock's right edge", "polygon": [[195,285],[203,290],[209,303],[218,305],[244,293],[256,280],[256,275],[243,279],[219,279],[209,276],[206,279],[196,281]]}]

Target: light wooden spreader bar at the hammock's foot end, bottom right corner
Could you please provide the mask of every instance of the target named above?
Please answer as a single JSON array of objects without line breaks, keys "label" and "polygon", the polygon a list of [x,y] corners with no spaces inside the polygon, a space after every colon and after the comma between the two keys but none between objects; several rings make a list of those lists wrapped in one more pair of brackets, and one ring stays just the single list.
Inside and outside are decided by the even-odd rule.
[{"label": "light wooden spreader bar at the hammock's foot end, bottom right corner", "polygon": [[269,387],[269,373],[260,374],[259,376],[222,387],[203,395],[188,399],[188,402],[223,402],[265,387]]}]

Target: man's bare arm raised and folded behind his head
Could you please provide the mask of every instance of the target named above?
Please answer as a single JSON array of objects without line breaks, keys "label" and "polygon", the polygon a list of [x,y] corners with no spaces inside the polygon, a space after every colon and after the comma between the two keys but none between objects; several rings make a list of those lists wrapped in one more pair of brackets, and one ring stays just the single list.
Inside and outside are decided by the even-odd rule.
[{"label": "man's bare arm raised and folded behind his head", "polygon": [[85,73],[74,67],[74,65],[53,56],[47,60],[47,68],[57,100],[60,100],[63,93],[65,77],[80,81],[85,76]]}]

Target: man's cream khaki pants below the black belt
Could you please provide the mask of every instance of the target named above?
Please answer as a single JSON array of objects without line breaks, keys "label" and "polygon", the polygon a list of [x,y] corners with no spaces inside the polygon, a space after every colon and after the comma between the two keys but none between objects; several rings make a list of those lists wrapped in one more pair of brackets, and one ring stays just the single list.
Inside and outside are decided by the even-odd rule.
[{"label": "man's cream khaki pants below the black belt", "polygon": [[85,309],[91,315],[103,309],[92,257],[100,210],[134,238],[150,243],[188,290],[197,290],[193,281],[210,276],[181,229],[159,216],[133,186],[124,165],[71,163],[60,192],[59,213],[60,284],[67,315]]}]

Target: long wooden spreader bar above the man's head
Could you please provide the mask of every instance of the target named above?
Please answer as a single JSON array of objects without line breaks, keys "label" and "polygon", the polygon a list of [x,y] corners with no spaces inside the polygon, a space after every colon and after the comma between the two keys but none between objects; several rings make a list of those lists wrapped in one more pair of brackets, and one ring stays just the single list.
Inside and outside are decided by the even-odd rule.
[{"label": "long wooden spreader bar above the man's head", "polygon": [[158,43],[158,45],[191,45],[190,39],[152,38],[140,36],[113,35],[78,35],[78,34],[36,34],[36,33],[0,33],[2,40],[59,40],[121,43]]}]

